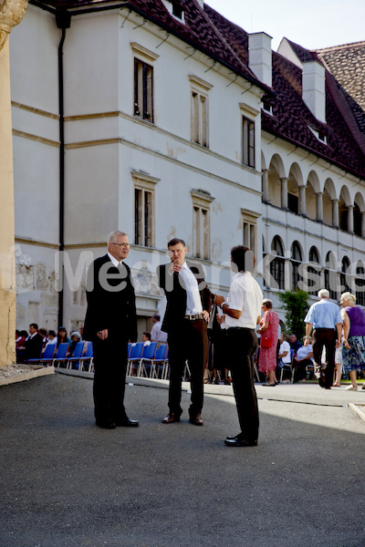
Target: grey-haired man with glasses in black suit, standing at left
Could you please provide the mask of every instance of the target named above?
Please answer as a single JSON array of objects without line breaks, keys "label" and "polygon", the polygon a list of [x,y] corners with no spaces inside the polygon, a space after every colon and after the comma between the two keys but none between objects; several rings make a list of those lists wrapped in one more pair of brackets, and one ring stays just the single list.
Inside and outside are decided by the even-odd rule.
[{"label": "grey-haired man with glasses in black suit, standing at left", "polygon": [[130,252],[128,235],[111,232],[108,253],[89,268],[88,310],[84,338],[94,350],[94,404],[99,428],[137,427],[124,408],[128,341],[137,340],[137,315],[130,268],[124,263]]}]

